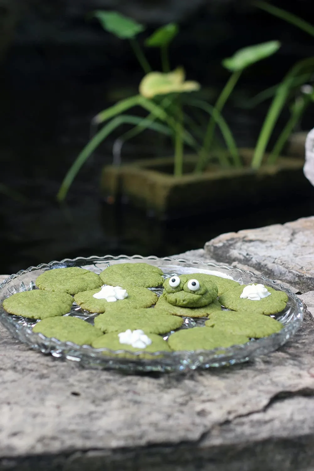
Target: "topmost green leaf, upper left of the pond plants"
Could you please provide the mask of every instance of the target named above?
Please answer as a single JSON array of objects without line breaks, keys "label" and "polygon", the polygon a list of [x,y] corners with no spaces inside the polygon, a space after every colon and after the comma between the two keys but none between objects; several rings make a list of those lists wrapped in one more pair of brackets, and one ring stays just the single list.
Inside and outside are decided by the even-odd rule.
[{"label": "topmost green leaf, upper left of the pond plants", "polygon": [[139,24],[117,11],[96,10],[93,15],[96,16],[105,31],[112,32],[120,39],[133,39],[139,32],[145,30],[143,24]]}]

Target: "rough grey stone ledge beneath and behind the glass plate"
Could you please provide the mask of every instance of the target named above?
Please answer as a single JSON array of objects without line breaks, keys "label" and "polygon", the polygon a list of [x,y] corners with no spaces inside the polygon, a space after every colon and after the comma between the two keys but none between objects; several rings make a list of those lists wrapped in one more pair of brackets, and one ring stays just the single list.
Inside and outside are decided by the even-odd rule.
[{"label": "rough grey stone ledge beneath and behind the glass plate", "polygon": [[[304,241],[312,219],[279,226],[282,246],[275,243],[278,226],[274,236],[269,228],[256,230],[268,257],[271,247],[279,252],[272,260],[281,271],[244,256],[257,237],[239,234],[254,231],[234,234],[232,243],[220,236],[215,259],[288,283],[292,270],[294,291],[300,290],[312,276],[306,256],[305,273],[299,268],[302,250],[310,252]],[[175,257],[215,261],[209,244]],[[236,254],[230,244],[238,244],[241,260],[229,256],[230,246]],[[0,471],[314,469],[314,292],[300,298],[308,306],[305,321],[281,349],[243,365],[185,374],[84,370],[28,349],[0,326]]]}]

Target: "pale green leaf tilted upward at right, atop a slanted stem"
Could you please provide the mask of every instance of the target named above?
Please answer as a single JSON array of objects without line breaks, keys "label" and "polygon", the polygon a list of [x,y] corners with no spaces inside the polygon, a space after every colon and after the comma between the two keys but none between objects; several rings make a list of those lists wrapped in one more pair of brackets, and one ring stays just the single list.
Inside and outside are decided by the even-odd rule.
[{"label": "pale green leaf tilted upward at right, atop a slanted stem", "polygon": [[231,72],[243,70],[259,60],[272,56],[280,46],[279,41],[268,41],[239,49],[232,57],[224,59],[222,65]]}]

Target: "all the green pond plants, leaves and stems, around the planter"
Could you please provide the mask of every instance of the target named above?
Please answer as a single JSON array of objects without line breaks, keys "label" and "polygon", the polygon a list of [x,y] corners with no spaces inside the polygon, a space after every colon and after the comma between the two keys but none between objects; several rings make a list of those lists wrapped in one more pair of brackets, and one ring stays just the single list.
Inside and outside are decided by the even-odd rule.
[{"label": "all the green pond plants, leaves and stems, around the planter", "polygon": [[[255,1],[254,4],[277,16],[281,15],[284,19],[287,19],[290,15],[283,15],[283,10],[269,6],[263,1]],[[278,12],[278,10],[280,11]],[[182,174],[184,146],[190,147],[193,149],[193,152],[199,156],[195,171],[202,171],[206,167],[211,155],[210,153],[213,150],[213,145],[215,144],[215,128],[217,126],[227,149],[227,152],[223,151],[217,153],[221,167],[241,167],[242,162],[239,156],[239,150],[232,132],[223,117],[223,108],[232,94],[243,70],[274,54],[280,48],[280,42],[268,41],[243,48],[238,50],[232,57],[224,59],[222,62],[223,66],[232,73],[218,96],[215,105],[211,106],[199,97],[195,97],[193,93],[185,93],[197,92],[200,90],[200,84],[196,81],[185,81],[185,72],[182,68],[177,67],[177,69],[170,72],[168,49],[170,42],[178,33],[177,24],[166,24],[158,28],[146,39],[146,46],[157,47],[160,48],[161,51],[162,72],[152,72],[136,38],[138,33],[145,30],[144,25],[138,24],[134,20],[115,11],[97,10],[94,12],[94,16],[98,18],[106,31],[112,32],[120,39],[128,39],[130,41],[135,56],[145,71],[145,76],[139,85],[138,95],[121,100],[95,116],[92,122],[94,126],[103,126],[82,149],[81,153],[66,173],[57,195],[58,201],[64,200],[73,179],[97,146],[122,125],[129,125],[131,129],[121,136],[121,142],[147,129],[169,136],[174,144],[174,172],[176,175]],[[305,29],[304,23],[306,22],[303,22],[303,20],[301,23],[296,22],[295,17],[291,18],[292,16],[289,16],[289,20],[287,20]],[[307,31],[310,32],[311,29],[307,28]],[[258,138],[254,158],[251,162],[252,168],[258,169],[261,165],[274,126],[283,107],[286,106],[290,99],[291,89],[295,89],[302,85],[302,83],[305,83],[313,73],[313,68],[314,57],[300,61],[292,67],[279,85],[265,90],[260,94],[260,97],[257,97],[258,101],[274,96]],[[293,127],[300,120],[306,106],[312,101],[313,92],[303,94],[302,97],[291,106],[290,120],[282,130],[274,146],[269,162],[275,162]],[[125,114],[125,112],[134,107],[141,107],[145,110],[147,113],[145,118]],[[188,112],[185,112],[186,108],[189,110]],[[209,115],[205,134],[200,124],[195,121],[190,108],[201,110],[202,118]]]}]

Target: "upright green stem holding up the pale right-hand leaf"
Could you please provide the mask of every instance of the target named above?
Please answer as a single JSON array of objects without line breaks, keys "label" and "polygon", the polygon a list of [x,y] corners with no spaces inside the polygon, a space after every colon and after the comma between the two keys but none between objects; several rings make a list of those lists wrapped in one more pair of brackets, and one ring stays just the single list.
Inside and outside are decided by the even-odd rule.
[{"label": "upright green stem holding up the pale right-hand leaf", "polygon": [[[235,71],[230,76],[229,80],[225,84],[225,87],[223,88],[222,92],[220,93],[220,95],[219,95],[219,97],[216,101],[216,104],[215,104],[215,107],[214,107],[215,113],[221,114],[222,109],[225,106],[225,102],[227,101],[228,97],[232,93],[232,91],[235,87],[235,84],[239,80],[239,77],[240,77],[241,73],[242,73],[242,70]],[[214,138],[215,127],[216,127],[216,120],[215,120],[215,118],[212,114],[210,119],[209,119],[209,123],[208,123],[208,126],[207,126],[207,130],[206,130],[206,134],[205,134],[205,138],[204,138],[203,146],[202,146],[202,150],[201,150],[201,154],[202,154],[203,157],[199,160],[199,162],[196,166],[196,169],[195,169],[196,171],[201,171],[203,169],[203,166],[206,163],[207,154],[210,150],[210,146],[211,146],[213,138]]]}]

